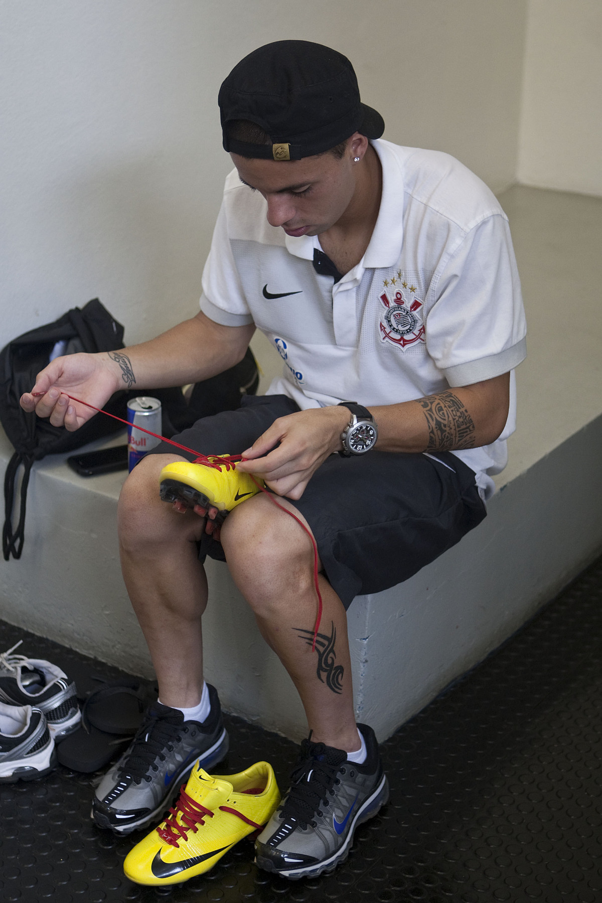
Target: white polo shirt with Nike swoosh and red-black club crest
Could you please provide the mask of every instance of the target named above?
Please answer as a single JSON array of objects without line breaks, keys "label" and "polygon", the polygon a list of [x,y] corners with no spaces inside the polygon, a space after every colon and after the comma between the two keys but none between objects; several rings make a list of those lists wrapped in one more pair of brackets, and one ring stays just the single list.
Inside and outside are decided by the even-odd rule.
[{"label": "white polo shirt with Nike swoosh and red-black club crest", "polygon": [[[337,284],[313,267],[318,237],[270,226],[261,194],[236,170],[226,180],[200,307],[218,323],[264,332],[283,359],[268,395],[301,409],[411,401],[499,376],[526,353],[514,250],[495,196],[449,154],[372,144],[383,167],[378,219],[366,254]],[[500,438],[454,452],[487,498],[514,432],[512,377]]]}]

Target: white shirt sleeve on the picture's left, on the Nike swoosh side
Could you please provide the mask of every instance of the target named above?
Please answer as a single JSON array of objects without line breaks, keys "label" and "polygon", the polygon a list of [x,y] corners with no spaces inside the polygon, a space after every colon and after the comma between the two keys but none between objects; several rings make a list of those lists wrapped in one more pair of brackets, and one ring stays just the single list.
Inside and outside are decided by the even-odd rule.
[{"label": "white shirt sleeve on the picture's left, on the Nike swoosh side", "polygon": [[222,326],[246,326],[253,322],[230,246],[226,200],[222,201],[213,230],[202,286],[200,309],[209,320]]}]

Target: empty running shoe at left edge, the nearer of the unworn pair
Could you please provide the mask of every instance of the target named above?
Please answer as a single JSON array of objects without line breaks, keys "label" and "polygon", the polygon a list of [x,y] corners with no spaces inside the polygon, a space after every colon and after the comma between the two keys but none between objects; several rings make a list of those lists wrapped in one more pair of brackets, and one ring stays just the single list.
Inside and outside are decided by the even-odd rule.
[{"label": "empty running shoe at left edge, the nearer of the unworn pair", "polygon": [[43,712],[0,703],[0,783],[31,781],[55,765],[54,740]]}]

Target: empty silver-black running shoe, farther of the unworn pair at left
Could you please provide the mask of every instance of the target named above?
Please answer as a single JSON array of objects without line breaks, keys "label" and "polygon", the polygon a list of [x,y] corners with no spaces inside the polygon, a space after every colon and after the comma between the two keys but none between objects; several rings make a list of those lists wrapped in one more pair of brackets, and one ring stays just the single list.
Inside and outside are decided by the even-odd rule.
[{"label": "empty silver-black running shoe, farther of the unworn pair at left", "polygon": [[13,655],[22,642],[0,655],[0,702],[40,709],[51,736],[59,742],[79,728],[75,684],[60,667],[43,658]]}]

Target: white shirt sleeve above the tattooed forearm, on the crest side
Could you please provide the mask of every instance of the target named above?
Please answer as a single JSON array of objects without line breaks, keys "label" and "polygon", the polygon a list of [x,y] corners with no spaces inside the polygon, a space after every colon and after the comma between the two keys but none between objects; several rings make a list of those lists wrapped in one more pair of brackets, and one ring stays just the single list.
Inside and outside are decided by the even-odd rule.
[{"label": "white shirt sleeve above the tattooed forearm, on the crest side", "polygon": [[491,216],[468,232],[434,291],[426,345],[449,386],[491,379],[521,363],[526,323],[505,217]]}]

